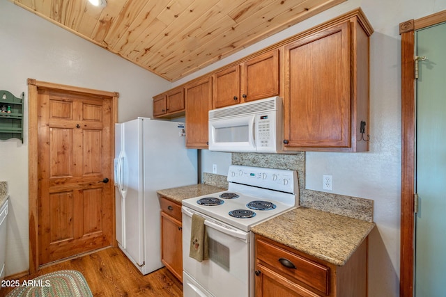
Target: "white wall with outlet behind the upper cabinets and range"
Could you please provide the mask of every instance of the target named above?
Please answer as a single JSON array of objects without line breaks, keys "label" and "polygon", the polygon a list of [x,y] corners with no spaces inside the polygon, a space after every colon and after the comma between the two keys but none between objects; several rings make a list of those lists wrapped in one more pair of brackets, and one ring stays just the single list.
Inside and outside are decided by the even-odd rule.
[{"label": "white wall with outlet behind the upper cabinets and range", "polygon": [[[348,0],[300,24],[247,47],[174,86],[206,74],[254,51],[284,40],[361,7],[374,27],[370,39],[370,151],[365,153],[308,152],[307,188],[321,191],[322,176],[333,175],[333,191],[374,200],[377,228],[370,236],[369,296],[399,296],[401,195],[401,38],[399,23],[446,9],[445,0]],[[226,166],[220,156],[203,154],[203,171],[210,164]]]}]

